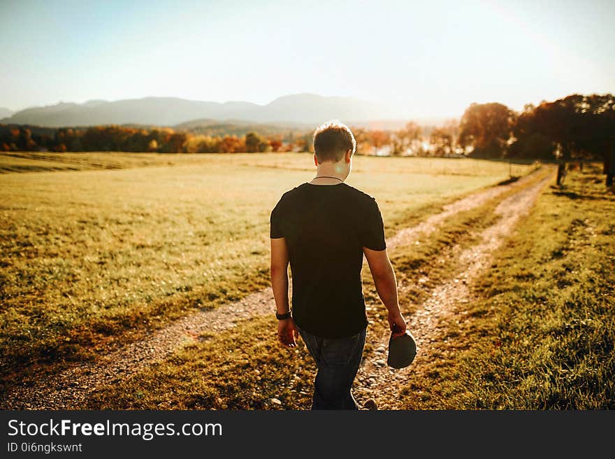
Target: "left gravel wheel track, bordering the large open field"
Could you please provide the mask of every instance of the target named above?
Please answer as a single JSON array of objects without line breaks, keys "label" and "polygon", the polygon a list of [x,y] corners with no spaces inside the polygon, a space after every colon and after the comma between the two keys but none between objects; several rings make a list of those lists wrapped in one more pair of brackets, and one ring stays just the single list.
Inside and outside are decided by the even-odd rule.
[{"label": "left gravel wheel track, bordering the large open field", "polygon": [[[474,209],[507,190],[523,188],[534,177],[535,174],[530,173],[514,183],[496,185],[458,199],[418,225],[400,230],[387,241],[387,246],[394,248],[412,243],[419,234],[421,237],[431,234],[456,213]],[[201,334],[229,330],[242,320],[272,313],[273,304],[273,294],[270,288],[266,288],[238,302],[175,320],[152,332],[151,337],[102,355],[95,362],[75,365],[34,384],[14,386],[0,401],[0,409],[80,409],[96,388],[117,383],[153,362],[169,357],[181,346],[198,341]],[[410,330],[414,330],[412,325]]]}]

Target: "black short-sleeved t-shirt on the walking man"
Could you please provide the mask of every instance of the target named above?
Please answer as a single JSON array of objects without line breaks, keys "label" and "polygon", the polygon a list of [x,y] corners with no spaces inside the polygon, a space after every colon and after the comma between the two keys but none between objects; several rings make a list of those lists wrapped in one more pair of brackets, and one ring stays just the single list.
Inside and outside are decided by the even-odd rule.
[{"label": "black short-sleeved t-shirt on the walking man", "polygon": [[298,327],[326,338],[363,330],[363,247],[386,248],[375,199],[345,183],[303,183],[282,195],[270,224],[270,237],[284,237],[289,250]]}]

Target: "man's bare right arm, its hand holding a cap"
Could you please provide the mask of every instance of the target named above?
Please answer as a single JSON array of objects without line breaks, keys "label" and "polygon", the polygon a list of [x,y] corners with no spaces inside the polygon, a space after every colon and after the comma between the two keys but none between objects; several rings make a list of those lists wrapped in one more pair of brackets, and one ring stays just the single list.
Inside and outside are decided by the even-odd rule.
[{"label": "man's bare right arm, its hand holding a cap", "polygon": [[378,296],[389,311],[389,327],[394,336],[400,336],[406,331],[406,323],[399,309],[397,280],[386,248],[384,250],[371,250],[363,247],[363,253],[365,253],[370,265]]}]

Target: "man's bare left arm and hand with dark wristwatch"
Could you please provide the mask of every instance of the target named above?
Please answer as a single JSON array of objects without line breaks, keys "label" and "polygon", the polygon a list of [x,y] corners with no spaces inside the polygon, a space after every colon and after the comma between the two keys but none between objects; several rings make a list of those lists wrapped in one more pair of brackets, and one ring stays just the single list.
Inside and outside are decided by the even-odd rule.
[{"label": "man's bare left arm and hand with dark wristwatch", "polygon": [[[271,241],[271,288],[275,299],[275,309],[278,314],[290,311],[289,306],[289,254],[286,239],[283,237],[270,239]],[[277,339],[284,346],[294,348],[299,332],[292,318],[278,320]]]}]

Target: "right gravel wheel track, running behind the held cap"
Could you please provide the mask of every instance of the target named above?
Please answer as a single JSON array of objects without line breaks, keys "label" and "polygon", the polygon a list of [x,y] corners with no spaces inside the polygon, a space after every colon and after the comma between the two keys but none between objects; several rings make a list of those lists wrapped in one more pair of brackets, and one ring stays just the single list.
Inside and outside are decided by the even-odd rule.
[{"label": "right gravel wheel track, running behind the held cap", "polygon": [[[433,343],[444,334],[444,318],[460,314],[460,305],[472,301],[470,285],[479,274],[492,262],[492,254],[506,236],[514,230],[514,226],[525,216],[544,187],[553,179],[553,174],[545,176],[537,183],[521,188],[513,195],[505,198],[495,208],[495,213],[501,218],[478,235],[480,242],[475,246],[461,250],[458,246],[453,250],[453,257],[458,263],[458,271],[454,278],[437,285],[431,290],[430,297],[419,306],[414,313],[402,311],[407,320],[408,330],[417,340],[417,357],[410,367],[392,369],[386,365],[386,353],[390,332],[373,339],[374,355],[364,360],[359,368],[354,384],[354,393],[361,400],[373,398],[378,409],[400,409],[398,392],[400,384],[417,367],[424,365],[431,358]],[[422,236],[422,234],[421,234]],[[409,290],[409,285],[399,285],[400,297]]]}]

